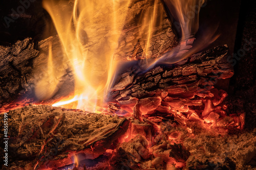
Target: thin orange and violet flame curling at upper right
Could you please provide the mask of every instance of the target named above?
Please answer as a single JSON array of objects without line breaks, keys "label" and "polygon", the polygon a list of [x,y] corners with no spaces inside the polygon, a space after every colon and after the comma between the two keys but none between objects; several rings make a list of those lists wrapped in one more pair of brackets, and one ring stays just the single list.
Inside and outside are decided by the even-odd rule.
[{"label": "thin orange and violet flame curling at upper right", "polygon": [[215,34],[218,28],[217,25],[216,28],[206,30],[197,43],[194,43],[194,36],[199,29],[199,12],[201,7],[206,5],[205,0],[164,0],[164,3],[176,20],[174,25],[177,26],[177,22],[179,23],[180,44],[172,51],[163,54],[156,61],[149,63],[147,69],[154,67],[156,64],[177,63],[203,50],[220,36]]}]

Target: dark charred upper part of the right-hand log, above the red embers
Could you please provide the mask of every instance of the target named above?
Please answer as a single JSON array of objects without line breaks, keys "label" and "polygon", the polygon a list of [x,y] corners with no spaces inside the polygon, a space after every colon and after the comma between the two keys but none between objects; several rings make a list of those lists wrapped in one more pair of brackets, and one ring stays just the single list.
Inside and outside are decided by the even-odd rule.
[{"label": "dark charred upper part of the right-hand log, above the red embers", "polygon": [[187,99],[194,95],[207,96],[218,79],[233,75],[227,52],[226,45],[218,46],[177,64],[156,66],[147,72],[138,65],[130,67],[115,80],[109,101],[161,95]]}]

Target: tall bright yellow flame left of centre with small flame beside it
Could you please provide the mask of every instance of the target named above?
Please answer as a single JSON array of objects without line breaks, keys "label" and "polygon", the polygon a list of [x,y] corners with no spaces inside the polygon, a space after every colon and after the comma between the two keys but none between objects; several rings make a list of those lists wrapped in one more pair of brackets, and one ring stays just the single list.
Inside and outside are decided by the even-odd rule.
[{"label": "tall bright yellow flame left of centre with small flame beside it", "polygon": [[[115,75],[117,61],[113,54],[124,25],[126,11],[130,1],[90,1],[44,0],[44,8],[50,14],[57,30],[63,52],[62,63],[72,67],[75,77],[74,97],[69,101],[60,101],[53,106],[61,106],[78,101],[77,109],[94,111],[103,105],[103,97],[108,92]],[[54,76],[51,66],[52,54],[49,48],[47,76]],[[56,78],[55,80],[59,80]],[[41,91],[54,92],[58,81],[49,84],[37,84],[37,96]],[[91,104],[89,104],[91,103]]]}]

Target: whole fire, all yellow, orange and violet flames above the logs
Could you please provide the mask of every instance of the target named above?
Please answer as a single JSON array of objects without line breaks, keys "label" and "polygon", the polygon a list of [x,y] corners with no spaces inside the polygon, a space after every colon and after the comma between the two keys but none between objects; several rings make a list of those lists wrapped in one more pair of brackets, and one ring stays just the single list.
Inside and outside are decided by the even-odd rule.
[{"label": "whole fire, all yellow, orange and violet flames above the logs", "polygon": [[[205,0],[165,0],[164,2],[180,23],[181,42],[174,50],[153,61],[153,64],[147,63],[147,67],[152,67],[156,63],[168,64],[180,61],[201,50],[207,44],[204,41],[209,44],[218,38],[209,34],[204,36],[206,37],[202,41],[204,45],[197,44],[195,48],[191,48],[195,39],[193,35],[199,28],[199,11]],[[65,56],[62,61],[54,64],[52,47],[49,46],[47,78],[36,84],[36,96],[45,100],[56,93],[59,79],[65,73],[59,72],[55,65],[63,68],[71,67],[75,77],[74,94],[69,100],[59,101],[53,106],[75,103],[72,104],[72,108],[75,106],[76,109],[95,112],[98,106],[104,105],[104,96],[112,85],[117,66],[120,65],[114,56],[130,1],[114,0],[102,3],[99,0],[93,2],[44,0],[42,4],[53,20]],[[146,59],[152,53],[150,48],[155,28],[162,25],[164,18],[164,11],[159,4],[159,0],[154,1],[154,6],[140,14],[136,21],[139,26],[138,36],[145,40],[141,42],[141,46]]]}]

